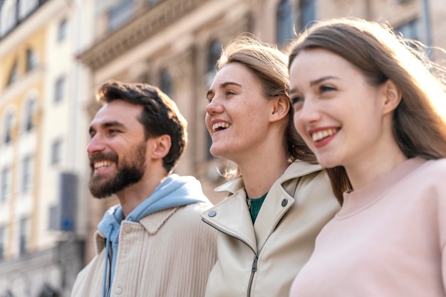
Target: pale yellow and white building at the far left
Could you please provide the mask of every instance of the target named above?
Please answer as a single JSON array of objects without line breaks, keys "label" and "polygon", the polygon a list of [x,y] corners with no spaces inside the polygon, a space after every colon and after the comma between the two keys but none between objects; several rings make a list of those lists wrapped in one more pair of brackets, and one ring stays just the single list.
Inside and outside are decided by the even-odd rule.
[{"label": "pale yellow and white building at the far left", "polygon": [[0,1],[0,296],[68,296],[83,266],[89,3]]}]

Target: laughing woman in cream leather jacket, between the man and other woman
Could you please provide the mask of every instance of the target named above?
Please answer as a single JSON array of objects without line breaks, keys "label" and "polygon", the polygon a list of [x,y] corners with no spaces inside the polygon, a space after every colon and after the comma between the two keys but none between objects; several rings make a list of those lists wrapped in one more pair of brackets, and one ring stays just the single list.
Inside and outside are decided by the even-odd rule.
[{"label": "laughing woman in cream leather jacket, between the man and other woman", "polygon": [[338,210],[326,172],[297,134],[287,57],[254,38],[232,41],[207,99],[211,153],[237,164],[202,214],[219,231],[206,296],[286,296]]}]

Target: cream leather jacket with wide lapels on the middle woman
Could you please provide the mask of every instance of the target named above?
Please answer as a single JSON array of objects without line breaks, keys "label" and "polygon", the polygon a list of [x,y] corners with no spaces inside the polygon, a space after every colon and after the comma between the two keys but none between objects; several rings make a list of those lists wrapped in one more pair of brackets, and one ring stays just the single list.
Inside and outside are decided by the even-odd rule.
[{"label": "cream leather jacket with wide lapels on the middle woman", "polygon": [[292,163],[271,186],[254,226],[242,178],[215,190],[232,195],[201,215],[219,231],[206,296],[289,296],[318,232],[340,208],[326,172],[317,164]]}]

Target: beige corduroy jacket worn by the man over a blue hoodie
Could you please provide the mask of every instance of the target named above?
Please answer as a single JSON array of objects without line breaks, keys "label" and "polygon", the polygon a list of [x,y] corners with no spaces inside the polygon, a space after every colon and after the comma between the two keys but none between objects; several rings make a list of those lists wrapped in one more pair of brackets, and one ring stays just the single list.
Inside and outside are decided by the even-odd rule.
[{"label": "beige corduroy jacket worn by the man over a blue hoodie", "polygon": [[[199,217],[209,206],[198,202],[123,221],[110,296],[204,296],[217,259],[217,232]],[[103,296],[104,238],[95,233],[96,255],[78,274],[72,297]]]}]

